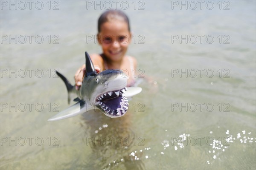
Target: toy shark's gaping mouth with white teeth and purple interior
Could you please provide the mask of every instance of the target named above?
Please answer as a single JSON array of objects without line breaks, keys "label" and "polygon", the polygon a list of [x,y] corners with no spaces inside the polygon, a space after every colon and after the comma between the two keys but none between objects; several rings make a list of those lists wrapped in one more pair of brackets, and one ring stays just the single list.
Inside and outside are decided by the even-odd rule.
[{"label": "toy shark's gaping mouth with white teeth and purple interior", "polygon": [[127,88],[119,91],[109,91],[96,97],[99,107],[111,116],[123,116],[128,110],[128,99],[125,97]]}]

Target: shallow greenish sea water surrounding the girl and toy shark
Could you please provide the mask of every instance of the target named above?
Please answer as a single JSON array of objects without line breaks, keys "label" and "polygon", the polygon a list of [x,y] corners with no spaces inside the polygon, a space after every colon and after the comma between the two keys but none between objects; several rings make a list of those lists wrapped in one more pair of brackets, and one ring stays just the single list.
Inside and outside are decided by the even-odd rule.
[{"label": "shallow greenish sea water surrounding the girl and toy shark", "polygon": [[67,91],[54,71],[73,81],[84,51],[101,52],[108,4],[40,2],[1,1],[1,169],[256,168],[255,1],[128,1],[143,91],[121,118],[58,122],[47,119],[68,107]]}]

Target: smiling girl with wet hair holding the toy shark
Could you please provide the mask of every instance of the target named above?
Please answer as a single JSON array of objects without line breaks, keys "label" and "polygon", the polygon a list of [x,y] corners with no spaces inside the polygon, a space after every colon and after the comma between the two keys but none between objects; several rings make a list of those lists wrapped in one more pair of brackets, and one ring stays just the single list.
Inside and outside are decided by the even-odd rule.
[{"label": "smiling girl with wet hair holding the toy shark", "polygon": [[[132,86],[135,82],[132,71],[137,67],[137,60],[125,55],[131,42],[128,17],[119,10],[105,11],[98,20],[97,38],[103,53],[90,55],[95,70],[100,72],[106,69],[120,69],[128,75],[127,86]],[[84,74],[85,65],[82,65],[75,74],[77,90]]]}]

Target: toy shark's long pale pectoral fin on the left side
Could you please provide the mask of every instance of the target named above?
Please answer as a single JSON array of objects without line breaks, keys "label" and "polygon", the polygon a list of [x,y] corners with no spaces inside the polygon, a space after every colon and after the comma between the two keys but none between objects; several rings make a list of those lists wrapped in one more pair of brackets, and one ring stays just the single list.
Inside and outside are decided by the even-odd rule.
[{"label": "toy shark's long pale pectoral fin on the left side", "polygon": [[61,111],[60,113],[56,114],[55,116],[48,119],[48,121],[56,121],[61,119],[66,119],[69,117],[76,116],[80,113],[83,113],[86,111],[86,104],[84,101],[80,100],[76,104],[68,107],[64,111]]}]

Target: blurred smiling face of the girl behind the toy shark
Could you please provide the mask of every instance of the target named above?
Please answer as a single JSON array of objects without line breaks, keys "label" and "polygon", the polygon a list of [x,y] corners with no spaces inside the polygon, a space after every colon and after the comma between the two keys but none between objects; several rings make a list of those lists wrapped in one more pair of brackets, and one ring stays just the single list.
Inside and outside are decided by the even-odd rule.
[{"label": "blurred smiling face of the girl behind the toy shark", "polygon": [[128,24],[122,21],[108,21],[101,25],[98,42],[103,54],[112,61],[120,61],[124,57],[131,42]]}]

